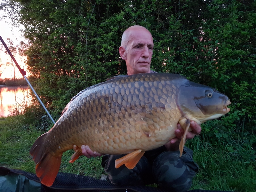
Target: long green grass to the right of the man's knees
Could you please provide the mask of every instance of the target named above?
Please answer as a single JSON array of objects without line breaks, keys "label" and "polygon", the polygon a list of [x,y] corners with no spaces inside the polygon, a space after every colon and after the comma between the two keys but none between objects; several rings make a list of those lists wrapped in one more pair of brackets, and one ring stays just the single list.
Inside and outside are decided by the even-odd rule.
[{"label": "long green grass to the right of the man's knees", "polygon": [[199,137],[191,140],[189,147],[193,149],[194,161],[200,167],[193,180],[193,189],[241,192],[256,190],[256,164],[248,151],[237,148],[236,152],[228,153],[225,146],[213,148],[211,144],[203,143]]}]

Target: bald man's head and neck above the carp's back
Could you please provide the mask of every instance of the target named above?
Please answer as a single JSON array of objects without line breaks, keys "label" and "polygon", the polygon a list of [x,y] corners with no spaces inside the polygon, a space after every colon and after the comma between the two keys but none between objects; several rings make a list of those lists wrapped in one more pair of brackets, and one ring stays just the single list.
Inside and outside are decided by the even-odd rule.
[{"label": "bald man's head and neck above the carp's back", "polygon": [[148,29],[134,25],[124,31],[119,53],[126,62],[128,75],[150,72],[153,47],[153,38]]}]

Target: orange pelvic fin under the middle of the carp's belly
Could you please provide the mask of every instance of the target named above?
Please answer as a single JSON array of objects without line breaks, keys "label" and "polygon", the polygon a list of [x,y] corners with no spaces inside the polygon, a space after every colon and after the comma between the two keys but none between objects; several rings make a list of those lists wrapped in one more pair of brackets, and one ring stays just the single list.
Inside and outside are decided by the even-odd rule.
[{"label": "orange pelvic fin under the middle of the carp's belly", "polygon": [[139,162],[140,158],[144,155],[145,151],[141,152],[141,149],[133,151],[119,159],[116,159],[115,167],[118,168],[125,164],[128,169],[133,169],[135,165]]}]

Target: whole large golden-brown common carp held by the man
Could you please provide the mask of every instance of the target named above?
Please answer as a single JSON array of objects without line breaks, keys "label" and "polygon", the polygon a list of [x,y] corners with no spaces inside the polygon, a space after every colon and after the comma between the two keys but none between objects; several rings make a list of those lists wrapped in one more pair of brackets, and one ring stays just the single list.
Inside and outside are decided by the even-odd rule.
[{"label": "whole large golden-brown common carp held by the man", "polygon": [[175,137],[180,123],[185,130],[229,112],[228,97],[208,86],[168,73],[116,76],[79,92],[64,108],[52,129],[30,149],[41,183],[51,186],[59,171],[62,153],[74,148],[74,162],[81,146],[102,154],[128,154],[116,168],[129,169],[145,151],[163,146]]}]

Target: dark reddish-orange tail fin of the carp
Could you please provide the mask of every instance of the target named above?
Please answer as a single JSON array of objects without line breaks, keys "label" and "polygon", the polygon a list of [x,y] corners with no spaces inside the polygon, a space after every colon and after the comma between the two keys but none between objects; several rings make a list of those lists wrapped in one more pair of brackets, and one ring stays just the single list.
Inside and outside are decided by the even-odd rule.
[{"label": "dark reddish-orange tail fin of the carp", "polygon": [[48,133],[41,135],[31,147],[29,153],[36,163],[36,176],[42,184],[51,186],[54,182],[61,163],[61,156],[53,156],[45,145],[45,137]]}]

